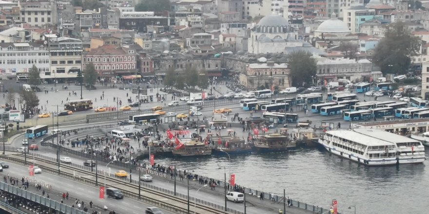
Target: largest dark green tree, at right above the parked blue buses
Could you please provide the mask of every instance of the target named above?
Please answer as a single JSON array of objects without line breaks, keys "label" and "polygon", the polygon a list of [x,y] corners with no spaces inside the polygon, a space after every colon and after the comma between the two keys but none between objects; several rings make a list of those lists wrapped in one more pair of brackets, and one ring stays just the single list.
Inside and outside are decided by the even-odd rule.
[{"label": "largest dark green tree, at right above the parked blue buses", "polygon": [[383,74],[404,74],[411,64],[411,56],[420,49],[419,39],[412,36],[404,22],[388,26],[372,55],[372,62],[381,68]]}]

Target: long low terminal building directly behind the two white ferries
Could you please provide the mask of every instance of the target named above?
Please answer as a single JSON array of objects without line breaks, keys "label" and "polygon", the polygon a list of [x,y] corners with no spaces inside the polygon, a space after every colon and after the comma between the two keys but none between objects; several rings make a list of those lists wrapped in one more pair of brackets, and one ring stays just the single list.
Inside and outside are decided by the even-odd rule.
[{"label": "long low terminal building directly behind the two white ferries", "polygon": [[429,131],[429,118],[352,123],[351,128],[374,128],[399,135]]}]

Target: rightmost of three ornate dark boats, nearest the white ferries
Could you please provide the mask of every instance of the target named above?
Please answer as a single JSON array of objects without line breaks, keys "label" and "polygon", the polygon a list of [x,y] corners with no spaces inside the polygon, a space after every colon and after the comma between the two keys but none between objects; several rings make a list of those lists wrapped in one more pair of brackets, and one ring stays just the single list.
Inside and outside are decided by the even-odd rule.
[{"label": "rightmost of three ornate dark boats, nearest the white ferries", "polygon": [[253,150],[257,153],[287,152],[296,148],[294,142],[289,142],[288,137],[281,134],[266,134],[259,136],[254,141]]}]

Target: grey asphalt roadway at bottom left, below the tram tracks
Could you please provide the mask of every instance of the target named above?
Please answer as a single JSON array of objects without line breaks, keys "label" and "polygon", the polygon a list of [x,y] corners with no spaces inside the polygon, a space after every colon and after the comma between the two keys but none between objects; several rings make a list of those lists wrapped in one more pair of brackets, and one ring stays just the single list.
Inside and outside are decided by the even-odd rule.
[{"label": "grey asphalt roadway at bottom left, below the tram tracks", "polygon": [[[4,169],[0,173],[3,176],[11,176],[15,178],[29,177],[28,168],[22,165],[18,165],[12,162],[9,162],[9,168]],[[152,207],[152,205],[142,203],[140,201],[124,197],[123,199],[113,199],[106,197],[105,199],[98,198],[98,188],[89,186],[86,184],[79,183],[74,180],[67,178],[62,178],[57,175],[48,174],[42,172],[41,174],[36,174],[34,177],[39,181],[45,182],[52,186],[51,190],[46,190],[46,194],[49,194],[51,199],[61,201],[62,193],[69,193],[69,199],[64,200],[64,203],[67,205],[72,205],[75,203],[76,199],[84,201],[84,204],[89,209],[89,202],[94,203],[93,209],[89,211],[98,211],[102,214],[107,214],[108,212],[102,211],[100,208],[107,206],[109,210],[113,210],[118,214],[141,214],[143,210],[147,207]],[[30,187],[31,192],[41,195],[41,191],[36,191],[34,187]],[[75,204],[75,207],[77,205]],[[171,212],[163,211],[165,214],[173,214]]]}]

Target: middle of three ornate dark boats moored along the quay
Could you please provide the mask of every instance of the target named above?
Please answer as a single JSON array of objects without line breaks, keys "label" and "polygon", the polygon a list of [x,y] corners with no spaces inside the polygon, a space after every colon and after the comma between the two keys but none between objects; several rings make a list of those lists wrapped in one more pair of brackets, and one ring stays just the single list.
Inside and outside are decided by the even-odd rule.
[{"label": "middle of three ornate dark boats moored along the quay", "polygon": [[[212,141],[214,139],[212,138]],[[238,137],[218,137],[217,143],[213,144],[212,154],[218,156],[238,155],[238,154],[250,154],[252,153],[252,147],[249,143],[241,140]]]}]

